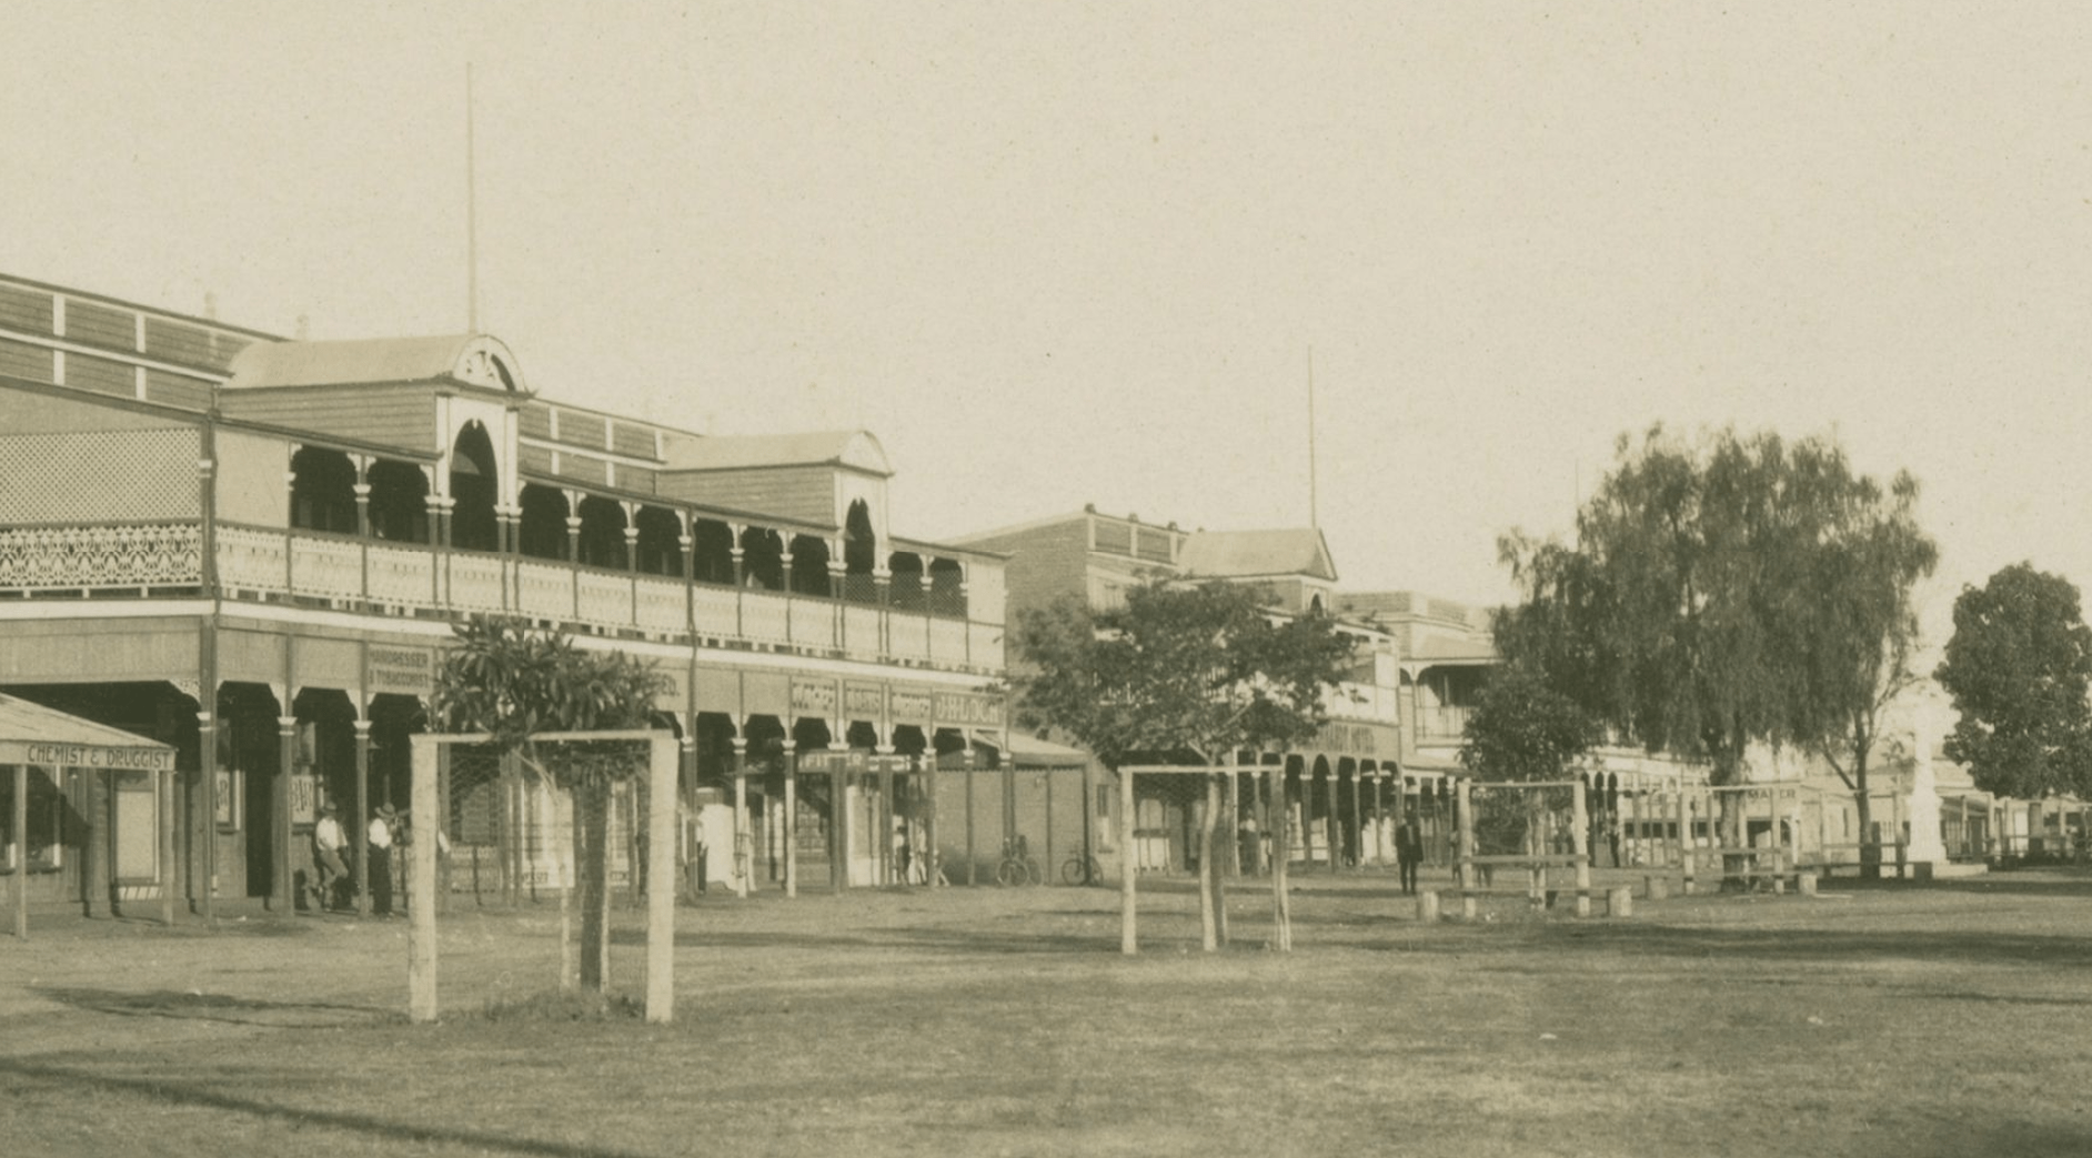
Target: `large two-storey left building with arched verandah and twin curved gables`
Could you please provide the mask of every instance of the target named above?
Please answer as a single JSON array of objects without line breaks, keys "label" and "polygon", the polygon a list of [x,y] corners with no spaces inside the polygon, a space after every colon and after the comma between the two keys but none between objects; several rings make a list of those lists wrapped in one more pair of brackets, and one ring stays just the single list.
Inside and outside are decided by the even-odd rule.
[{"label": "large two-storey left building with arched verandah and twin curved gables", "polygon": [[[755,878],[784,832],[776,771],[728,811],[738,769],[895,757],[843,817],[799,803],[799,849],[877,884],[889,824],[920,849],[933,815],[908,757],[1006,750],[1002,558],[891,535],[889,477],[862,431],[701,437],[550,401],[487,334],[282,341],[0,276],[0,692],[180,767],[172,809],[109,821],[73,773],[33,775],[4,878],[98,911],[163,888],[207,909],[215,876],[218,903],[289,911],[318,801],[351,830],[358,801],[404,805],[439,648],[502,612],[674,677],[657,707],[684,805],[720,821],[713,880],[734,832]],[[88,897],[82,851],[117,815],[174,826],[174,863]]]}]

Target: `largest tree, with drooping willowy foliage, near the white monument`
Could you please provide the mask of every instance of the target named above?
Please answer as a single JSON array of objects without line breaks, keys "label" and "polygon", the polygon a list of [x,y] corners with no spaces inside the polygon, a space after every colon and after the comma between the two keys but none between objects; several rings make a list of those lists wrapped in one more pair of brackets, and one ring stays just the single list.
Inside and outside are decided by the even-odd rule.
[{"label": "largest tree, with drooping willowy foliage, near the white monument", "polygon": [[[1904,684],[1912,583],[1937,548],[1918,485],[1856,474],[1828,439],[1661,426],[1621,437],[1573,543],[1508,535],[1523,604],[1498,648],[1615,734],[1736,784],[1753,742],[1864,752]],[[1734,811],[1726,817],[1734,842]]]}]

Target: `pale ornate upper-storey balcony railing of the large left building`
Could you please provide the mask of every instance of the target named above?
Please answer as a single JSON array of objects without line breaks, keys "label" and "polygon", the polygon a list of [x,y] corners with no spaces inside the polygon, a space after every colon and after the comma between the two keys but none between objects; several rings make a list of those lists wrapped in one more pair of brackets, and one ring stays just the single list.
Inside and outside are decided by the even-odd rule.
[{"label": "pale ornate upper-storey balcony railing of the large left building", "polygon": [[[1002,669],[1002,627],[948,615],[684,583],[600,566],[412,543],[215,527],[228,598],[301,598],[395,612],[510,612],[600,631],[697,635],[864,661]],[[195,523],[0,529],[0,596],[203,585]]]}]

